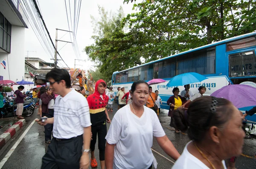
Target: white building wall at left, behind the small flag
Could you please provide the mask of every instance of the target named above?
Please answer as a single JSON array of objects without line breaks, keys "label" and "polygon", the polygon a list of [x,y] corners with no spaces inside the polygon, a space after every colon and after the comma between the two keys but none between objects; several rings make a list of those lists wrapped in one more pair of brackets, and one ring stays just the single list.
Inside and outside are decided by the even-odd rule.
[{"label": "white building wall at left, behind the small flag", "polygon": [[[6,69],[0,65],[4,80],[21,81],[25,73],[25,28],[12,25],[11,53],[0,53],[0,62],[5,60]],[[13,86],[17,89],[17,85]]]}]

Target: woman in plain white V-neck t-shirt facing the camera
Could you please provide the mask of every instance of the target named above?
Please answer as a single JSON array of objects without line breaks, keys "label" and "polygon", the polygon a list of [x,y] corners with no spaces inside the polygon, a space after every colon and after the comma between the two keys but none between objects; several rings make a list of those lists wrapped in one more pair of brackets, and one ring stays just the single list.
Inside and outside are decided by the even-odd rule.
[{"label": "woman in plain white V-neck t-shirt facing the camera", "polygon": [[180,156],[163,131],[154,110],[144,106],[148,90],[146,82],[134,82],[131,86],[132,103],[114,115],[106,136],[106,169],[151,169],[154,160],[151,152],[153,136],[166,154],[175,160]]}]

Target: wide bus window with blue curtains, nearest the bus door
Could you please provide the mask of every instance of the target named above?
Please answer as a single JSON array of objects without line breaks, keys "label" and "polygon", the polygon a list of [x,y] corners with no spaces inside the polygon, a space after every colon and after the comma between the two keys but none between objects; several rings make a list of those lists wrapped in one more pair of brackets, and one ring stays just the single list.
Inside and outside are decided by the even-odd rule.
[{"label": "wide bus window with blue curtains, nearest the bus door", "polygon": [[199,74],[215,73],[215,48],[193,52],[178,57],[178,74],[196,72]]}]

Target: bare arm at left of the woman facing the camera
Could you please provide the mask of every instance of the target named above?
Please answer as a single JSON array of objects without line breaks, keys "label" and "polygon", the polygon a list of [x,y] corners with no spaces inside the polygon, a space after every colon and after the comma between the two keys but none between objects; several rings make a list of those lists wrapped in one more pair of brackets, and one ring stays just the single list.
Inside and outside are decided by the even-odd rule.
[{"label": "bare arm at left of the woman facing the camera", "polygon": [[105,165],[106,169],[113,169],[113,161],[114,161],[114,150],[116,144],[108,144],[106,141],[106,148],[105,148]]}]

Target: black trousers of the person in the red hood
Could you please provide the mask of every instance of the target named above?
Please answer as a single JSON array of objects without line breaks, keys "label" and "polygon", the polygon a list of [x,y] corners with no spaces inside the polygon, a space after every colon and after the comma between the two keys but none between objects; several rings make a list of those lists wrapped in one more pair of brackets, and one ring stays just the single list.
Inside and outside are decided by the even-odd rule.
[{"label": "black trousers of the person in the red hood", "polygon": [[95,126],[91,126],[92,128],[92,134],[93,134],[93,140],[90,143],[90,149],[93,152],[95,150],[95,144],[97,139],[97,133],[98,133],[98,147],[99,147],[99,160],[104,161],[105,160],[105,146],[106,146],[106,135],[107,135],[107,124],[106,121],[96,124]]}]

